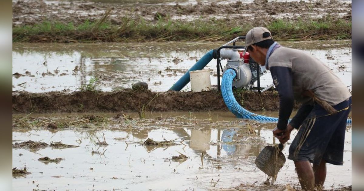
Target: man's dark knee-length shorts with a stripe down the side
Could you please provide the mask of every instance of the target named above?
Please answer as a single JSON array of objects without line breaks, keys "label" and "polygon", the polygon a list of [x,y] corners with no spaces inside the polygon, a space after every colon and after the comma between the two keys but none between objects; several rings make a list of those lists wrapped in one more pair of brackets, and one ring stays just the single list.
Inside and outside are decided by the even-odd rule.
[{"label": "man's dark knee-length shorts with a stripe down the side", "polygon": [[324,159],[327,163],[343,165],[345,130],[351,110],[351,97],[333,107],[339,112],[328,115],[327,111],[315,104],[289,147],[288,159],[309,161],[317,165]]}]

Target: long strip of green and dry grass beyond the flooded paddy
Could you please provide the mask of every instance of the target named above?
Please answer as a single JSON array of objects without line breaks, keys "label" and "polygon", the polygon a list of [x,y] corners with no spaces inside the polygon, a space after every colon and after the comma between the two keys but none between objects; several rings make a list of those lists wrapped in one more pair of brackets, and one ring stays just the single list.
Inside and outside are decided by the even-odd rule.
[{"label": "long strip of green and dry grass beyond the flooded paddy", "polygon": [[[96,22],[82,24],[57,21],[32,26],[13,27],[13,42],[128,42],[128,41],[217,41],[244,36],[253,24],[226,23],[222,19],[178,21],[160,18],[151,22],[124,17],[122,24],[114,25],[106,16]],[[273,20],[266,26],[274,39],[325,40],[351,39],[351,19],[330,16],[311,20]]]}]

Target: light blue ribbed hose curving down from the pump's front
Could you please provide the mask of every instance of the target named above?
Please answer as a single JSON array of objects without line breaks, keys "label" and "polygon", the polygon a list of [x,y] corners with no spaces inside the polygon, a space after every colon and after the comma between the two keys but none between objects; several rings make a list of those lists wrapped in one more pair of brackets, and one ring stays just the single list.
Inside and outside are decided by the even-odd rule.
[{"label": "light blue ribbed hose curving down from the pump's front", "polygon": [[[236,72],[233,69],[227,69],[222,76],[221,93],[227,108],[238,118],[251,119],[259,122],[278,122],[278,118],[254,114],[238,104],[234,98],[232,89],[232,82],[235,76]],[[347,124],[351,125],[351,119],[347,120]]]}]

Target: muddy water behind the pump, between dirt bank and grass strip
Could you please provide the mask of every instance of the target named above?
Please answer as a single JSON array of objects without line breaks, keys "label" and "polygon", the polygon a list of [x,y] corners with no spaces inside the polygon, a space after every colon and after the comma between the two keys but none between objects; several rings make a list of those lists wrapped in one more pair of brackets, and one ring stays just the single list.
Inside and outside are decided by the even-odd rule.
[{"label": "muddy water behind the pump, between dirt bank and grass strip", "polygon": [[[215,43],[13,43],[13,90],[29,92],[75,91],[99,78],[99,88],[111,91],[145,81],[153,91],[168,90]],[[351,85],[351,41],[301,41],[281,44],[300,48],[324,61],[345,85]],[[222,61],[226,65],[226,60]],[[205,67],[217,84],[216,60]],[[262,86],[272,83],[269,73]],[[349,87],[351,89],[351,87]],[[185,89],[190,90],[190,84]]]}]

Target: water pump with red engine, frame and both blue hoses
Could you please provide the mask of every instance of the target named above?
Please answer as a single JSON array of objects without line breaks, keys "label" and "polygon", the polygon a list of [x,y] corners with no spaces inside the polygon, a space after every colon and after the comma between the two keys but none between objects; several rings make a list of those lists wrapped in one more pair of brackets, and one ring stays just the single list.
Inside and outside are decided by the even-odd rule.
[{"label": "water pump with red engine, frame and both blue hoses", "polygon": [[[245,36],[239,36],[222,45],[217,49],[212,49],[201,57],[173,86],[170,90],[181,91],[190,81],[190,71],[203,69],[212,59],[217,61],[217,88],[221,91],[222,98],[226,107],[238,118],[251,119],[259,122],[278,122],[278,118],[262,116],[245,110],[236,101],[233,94],[233,88],[247,88],[252,91],[264,92],[273,87],[273,84],[266,88],[260,88],[260,76],[265,75],[267,71],[254,61],[248,53],[243,55],[244,46],[237,46],[236,41],[245,39]],[[233,45],[229,45],[229,44]],[[225,68],[222,68],[221,60],[227,59]],[[222,84],[220,85],[220,69],[223,72]],[[254,83],[257,81],[257,87]],[[351,124],[351,119],[348,119]]]}]

